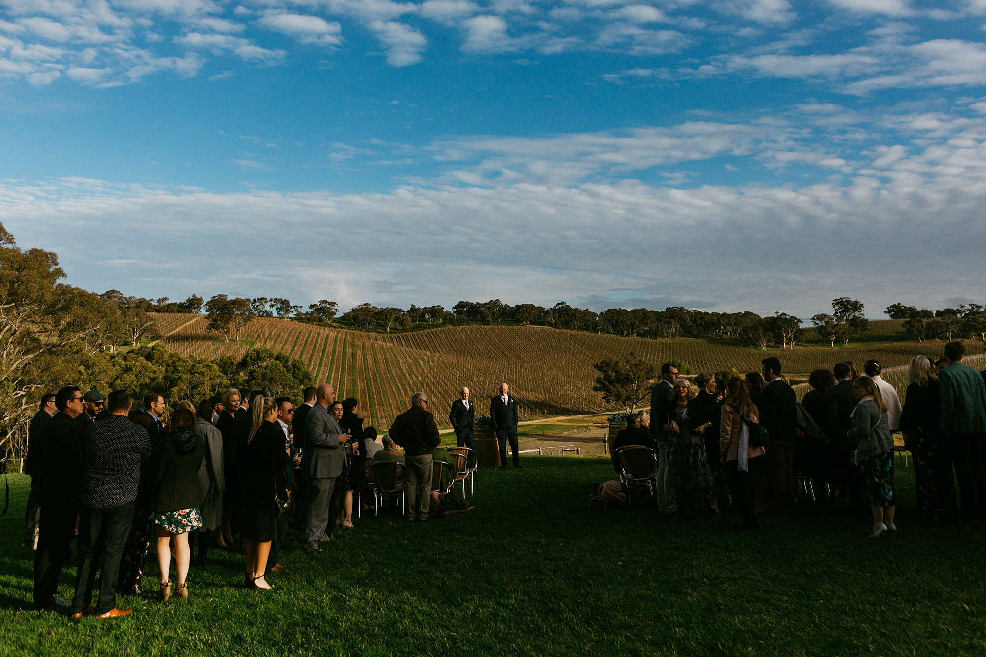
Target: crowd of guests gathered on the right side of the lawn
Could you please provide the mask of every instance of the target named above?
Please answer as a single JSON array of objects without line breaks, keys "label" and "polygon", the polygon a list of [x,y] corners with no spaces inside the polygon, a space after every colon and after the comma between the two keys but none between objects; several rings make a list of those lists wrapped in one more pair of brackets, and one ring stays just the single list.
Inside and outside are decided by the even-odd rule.
[{"label": "crowd of guests gathered on the right side of the lawn", "polygon": [[[870,536],[895,532],[894,439],[914,458],[917,517],[986,517],[986,371],[962,364],[962,342],[945,345],[945,357],[915,356],[907,368],[901,405],[876,360],[860,372],[851,361],[811,372],[811,391],[799,402],[777,358],[761,372],[717,382],[694,381],[662,366],[650,412],[631,413],[611,448],[623,472],[620,448],[641,445],[657,455],[657,503],[676,520],[691,511],[702,520],[718,512],[727,495],[739,506],[743,527],[757,515],[790,515],[799,474],[819,484],[822,501],[846,497],[853,514],[870,517]],[[613,485],[616,484],[616,485]],[[617,503],[618,482],[599,495]],[[869,507],[869,508],[868,508]]]}]

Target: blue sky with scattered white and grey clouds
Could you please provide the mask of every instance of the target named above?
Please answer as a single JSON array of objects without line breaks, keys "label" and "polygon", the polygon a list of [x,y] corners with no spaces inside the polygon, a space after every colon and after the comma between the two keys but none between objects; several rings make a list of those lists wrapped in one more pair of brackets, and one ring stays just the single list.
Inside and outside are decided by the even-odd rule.
[{"label": "blue sky with scattered white and grey clouds", "polygon": [[0,0],[69,282],[800,317],[983,301],[986,0]]}]

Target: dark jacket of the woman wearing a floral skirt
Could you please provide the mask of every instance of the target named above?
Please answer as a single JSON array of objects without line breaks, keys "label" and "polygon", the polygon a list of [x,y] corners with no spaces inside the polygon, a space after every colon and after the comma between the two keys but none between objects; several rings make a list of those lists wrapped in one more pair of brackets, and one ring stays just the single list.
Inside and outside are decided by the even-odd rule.
[{"label": "dark jacket of the woman wearing a floral skirt", "polygon": [[[189,433],[194,438],[188,436]],[[194,441],[194,448],[186,454],[179,449],[183,440]],[[155,511],[179,511],[202,503],[209,490],[205,450],[205,439],[194,430],[173,431],[161,441],[161,453],[151,474],[158,484]]]}]

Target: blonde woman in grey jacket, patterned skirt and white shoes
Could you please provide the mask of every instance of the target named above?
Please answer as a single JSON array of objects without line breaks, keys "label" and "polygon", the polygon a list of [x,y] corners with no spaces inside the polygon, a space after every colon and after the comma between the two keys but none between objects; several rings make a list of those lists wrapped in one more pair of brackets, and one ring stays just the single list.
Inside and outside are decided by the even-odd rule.
[{"label": "blonde woman in grey jacket, patterned skirt and white shoes", "polygon": [[897,531],[893,524],[896,491],[893,487],[893,435],[890,433],[886,404],[880,389],[870,377],[853,381],[853,395],[859,400],[850,416],[853,427],[849,437],[856,441],[853,463],[863,474],[864,494],[873,509],[873,534],[879,539],[886,532]]}]

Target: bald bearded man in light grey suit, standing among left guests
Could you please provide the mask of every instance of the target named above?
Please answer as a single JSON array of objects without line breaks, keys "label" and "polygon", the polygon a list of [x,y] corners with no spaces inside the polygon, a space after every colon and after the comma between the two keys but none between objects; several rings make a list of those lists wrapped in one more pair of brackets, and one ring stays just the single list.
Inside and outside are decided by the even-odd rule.
[{"label": "bald bearded man in light grey suit, standing among left guests", "polygon": [[342,473],[349,435],[328,412],[335,401],[335,390],[328,384],[318,386],[317,401],[305,418],[305,451],[302,472],[308,481],[308,516],[305,524],[305,551],[317,552],[319,541],[331,539],[328,530],[329,501],[335,477]]}]

